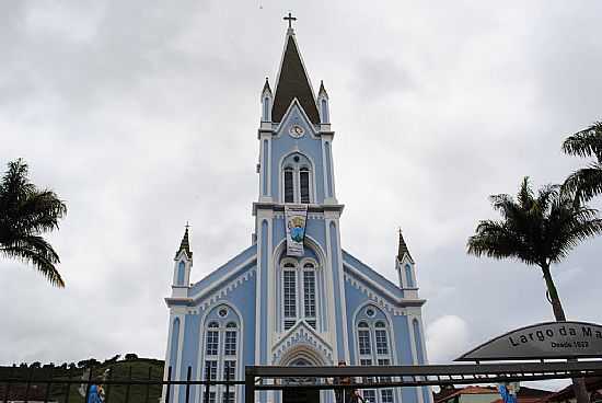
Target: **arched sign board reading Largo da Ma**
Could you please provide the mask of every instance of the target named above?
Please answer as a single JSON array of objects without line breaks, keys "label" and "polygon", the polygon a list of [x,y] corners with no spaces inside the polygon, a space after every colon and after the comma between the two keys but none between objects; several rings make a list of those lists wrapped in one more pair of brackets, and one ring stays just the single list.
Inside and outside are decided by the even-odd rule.
[{"label": "arched sign board reading Largo da Ma", "polygon": [[602,326],[546,322],[517,329],[464,354],[456,361],[602,358]]}]

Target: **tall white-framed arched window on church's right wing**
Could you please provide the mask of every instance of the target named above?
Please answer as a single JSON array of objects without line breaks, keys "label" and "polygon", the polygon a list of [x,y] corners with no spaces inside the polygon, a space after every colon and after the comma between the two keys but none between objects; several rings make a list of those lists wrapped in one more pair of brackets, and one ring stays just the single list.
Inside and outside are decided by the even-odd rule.
[{"label": "tall white-framed arched window on church's right wing", "polygon": [[[357,352],[358,364],[361,366],[390,366],[392,365],[389,336],[389,324],[384,313],[375,306],[367,306],[358,313],[357,322]],[[373,378],[364,378],[364,383],[373,382]],[[380,377],[381,382],[391,381],[390,377]],[[392,389],[364,389],[366,403],[393,403]]]}]

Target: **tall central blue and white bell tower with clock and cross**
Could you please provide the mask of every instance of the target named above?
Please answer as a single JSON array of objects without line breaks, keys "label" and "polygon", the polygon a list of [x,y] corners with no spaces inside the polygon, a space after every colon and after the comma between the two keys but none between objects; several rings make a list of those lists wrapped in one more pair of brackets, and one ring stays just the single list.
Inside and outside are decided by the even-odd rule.
[{"label": "tall central blue and white bell tower with clock and cross", "polygon": [[[288,28],[278,74],[274,87],[268,79],[264,83],[257,134],[259,195],[253,204],[258,266],[256,295],[267,298],[258,297],[255,302],[259,318],[256,364],[277,364],[270,355],[278,343],[290,337],[290,332],[299,326],[317,332],[332,346],[333,362],[349,361],[339,232],[344,206],[338,204],[335,192],[332,154],[335,134],[331,129],[329,97],[323,82],[317,95],[314,92],[292,27],[296,19],[289,14],[285,20]],[[306,208],[304,256],[286,255],[287,205]],[[299,275],[287,273],[288,284],[294,281],[301,290],[303,280],[315,281],[316,300],[324,301],[320,307],[305,303],[302,293],[296,293],[300,300],[296,308],[285,307],[282,298],[287,296],[282,295],[282,281],[291,265],[299,268]],[[315,276],[303,274],[310,266],[315,269]],[[326,285],[334,292],[320,291],[320,287]]]}]

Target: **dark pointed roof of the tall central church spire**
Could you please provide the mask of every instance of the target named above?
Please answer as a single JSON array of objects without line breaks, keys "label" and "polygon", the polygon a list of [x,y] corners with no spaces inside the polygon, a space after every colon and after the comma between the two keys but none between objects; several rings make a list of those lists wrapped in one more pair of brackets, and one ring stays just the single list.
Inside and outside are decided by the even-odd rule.
[{"label": "dark pointed roof of the tall central church spire", "polygon": [[271,122],[281,122],[293,99],[299,103],[310,120],[320,124],[320,114],[315,105],[315,99],[310,85],[310,79],[301,61],[301,55],[294,41],[294,32],[289,28],[287,32],[287,46],[278,73],[276,94],[271,106]]}]

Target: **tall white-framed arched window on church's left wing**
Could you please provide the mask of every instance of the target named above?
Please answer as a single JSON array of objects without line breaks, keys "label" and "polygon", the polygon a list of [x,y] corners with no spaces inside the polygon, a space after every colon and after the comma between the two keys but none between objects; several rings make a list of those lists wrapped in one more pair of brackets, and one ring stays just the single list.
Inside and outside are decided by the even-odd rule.
[{"label": "tall white-framed arched window on church's left wing", "polygon": [[[205,380],[239,380],[236,376],[236,362],[242,359],[240,352],[240,319],[228,306],[222,304],[215,308],[208,314],[208,323],[205,330],[205,365],[202,378]],[[201,391],[205,393],[205,389]],[[209,388],[209,402],[233,403],[235,388],[231,387],[229,395],[225,394],[223,385],[211,385]],[[205,399],[205,395],[201,396]],[[205,401],[205,400],[201,400]]]}]

